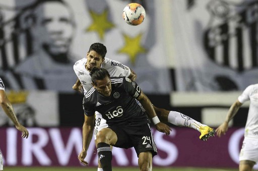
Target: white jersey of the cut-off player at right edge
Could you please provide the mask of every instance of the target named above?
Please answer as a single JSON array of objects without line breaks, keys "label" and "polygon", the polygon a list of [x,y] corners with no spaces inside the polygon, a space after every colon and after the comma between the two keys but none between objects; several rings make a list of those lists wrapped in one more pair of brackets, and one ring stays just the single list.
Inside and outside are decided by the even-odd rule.
[{"label": "white jersey of the cut-off player at right edge", "polygon": [[250,106],[244,136],[258,138],[258,84],[248,86],[238,97],[240,103],[248,100],[250,100]]}]

